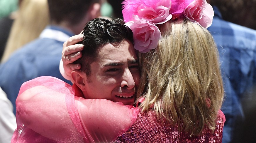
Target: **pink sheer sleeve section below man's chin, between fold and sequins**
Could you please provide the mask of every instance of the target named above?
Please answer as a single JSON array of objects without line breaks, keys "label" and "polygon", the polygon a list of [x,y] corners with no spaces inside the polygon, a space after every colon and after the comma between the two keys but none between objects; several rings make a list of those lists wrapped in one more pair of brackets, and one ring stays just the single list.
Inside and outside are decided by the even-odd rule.
[{"label": "pink sheer sleeve section below man's chin, between fold and sequins", "polygon": [[76,97],[82,126],[89,142],[110,142],[135,122],[139,108],[105,99]]}]

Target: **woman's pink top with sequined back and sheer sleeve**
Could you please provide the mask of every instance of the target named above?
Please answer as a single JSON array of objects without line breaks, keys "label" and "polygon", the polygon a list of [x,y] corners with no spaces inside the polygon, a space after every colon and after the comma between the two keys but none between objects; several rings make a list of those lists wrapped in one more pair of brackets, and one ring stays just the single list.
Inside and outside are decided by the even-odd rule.
[{"label": "woman's pink top with sequined back and sheer sleeve", "polygon": [[[213,134],[189,137],[159,122],[155,112],[105,99],[84,99],[76,85],[55,77],[25,82],[16,100],[17,129],[11,142],[221,142],[220,111]],[[200,139],[199,139],[200,138]]]}]

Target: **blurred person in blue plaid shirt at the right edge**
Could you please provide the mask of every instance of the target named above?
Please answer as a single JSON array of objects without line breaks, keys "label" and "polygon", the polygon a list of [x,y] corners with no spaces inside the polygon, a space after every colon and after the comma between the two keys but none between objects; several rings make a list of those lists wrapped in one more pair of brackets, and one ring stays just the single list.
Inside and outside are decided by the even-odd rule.
[{"label": "blurred person in blue plaid shirt at the right edge", "polygon": [[[234,141],[234,131],[240,128],[244,121],[244,111],[241,101],[245,92],[252,92],[251,87],[256,83],[256,31],[223,20],[220,10],[214,6],[236,5],[233,0],[210,0],[213,5],[213,23],[208,30],[213,35],[220,53],[226,98],[222,111],[226,116],[223,128],[223,143]],[[228,3],[228,4],[227,4]],[[242,8],[246,9],[242,6]],[[229,14],[235,15],[229,7]],[[237,9],[234,9],[234,11]],[[241,11],[237,11],[241,13]],[[227,13],[222,13],[223,15]],[[242,17],[239,17],[242,19]]]}]

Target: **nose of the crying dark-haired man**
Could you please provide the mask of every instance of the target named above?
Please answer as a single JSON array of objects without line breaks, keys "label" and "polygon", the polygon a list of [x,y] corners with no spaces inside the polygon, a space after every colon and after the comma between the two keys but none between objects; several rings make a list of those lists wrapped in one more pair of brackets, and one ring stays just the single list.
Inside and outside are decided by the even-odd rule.
[{"label": "nose of the crying dark-haired man", "polygon": [[133,89],[134,86],[135,86],[135,82],[133,80],[133,75],[129,69],[126,69],[123,73],[121,87],[124,87],[127,89]]}]

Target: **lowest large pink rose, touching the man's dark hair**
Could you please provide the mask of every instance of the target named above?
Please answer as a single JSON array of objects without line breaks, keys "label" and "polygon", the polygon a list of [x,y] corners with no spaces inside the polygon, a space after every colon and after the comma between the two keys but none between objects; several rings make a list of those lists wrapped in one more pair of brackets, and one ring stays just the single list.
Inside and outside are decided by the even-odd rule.
[{"label": "lowest large pink rose, touching the man's dark hair", "polygon": [[158,27],[147,20],[134,16],[134,21],[125,24],[133,31],[134,48],[142,53],[157,48],[161,33]]}]

